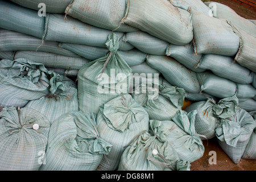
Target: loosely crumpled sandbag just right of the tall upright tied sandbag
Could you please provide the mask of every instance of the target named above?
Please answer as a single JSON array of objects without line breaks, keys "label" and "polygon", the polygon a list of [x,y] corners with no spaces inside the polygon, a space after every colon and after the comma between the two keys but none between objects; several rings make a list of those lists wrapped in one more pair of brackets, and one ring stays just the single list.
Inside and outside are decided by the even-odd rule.
[{"label": "loosely crumpled sandbag just right of the tall upright tied sandbag", "polygon": [[146,82],[142,82],[139,88],[135,87],[131,94],[134,100],[144,107],[150,119],[159,121],[171,120],[177,111],[181,110],[184,95],[182,88]]}]

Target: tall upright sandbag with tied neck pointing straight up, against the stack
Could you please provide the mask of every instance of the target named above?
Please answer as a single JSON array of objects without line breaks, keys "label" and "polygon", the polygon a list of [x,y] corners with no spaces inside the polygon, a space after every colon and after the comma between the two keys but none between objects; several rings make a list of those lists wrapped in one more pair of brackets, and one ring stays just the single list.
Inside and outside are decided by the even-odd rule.
[{"label": "tall upright sandbag with tied neck pointing straight up, against the stack", "polygon": [[117,53],[118,36],[109,34],[106,46],[109,48],[106,56],[85,64],[77,75],[81,111],[97,114],[102,104],[121,93],[129,93],[132,70]]}]

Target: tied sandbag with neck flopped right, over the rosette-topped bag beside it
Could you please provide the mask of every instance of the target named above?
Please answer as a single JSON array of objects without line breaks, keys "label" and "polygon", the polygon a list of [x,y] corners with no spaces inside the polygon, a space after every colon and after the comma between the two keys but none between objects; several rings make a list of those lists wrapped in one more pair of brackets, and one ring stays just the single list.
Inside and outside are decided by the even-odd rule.
[{"label": "tied sandbag with neck flopped right, over the rosette-topped bag beside it", "polygon": [[[200,135],[204,135],[207,139],[215,137],[215,129],[220,123],[220,118],[228,118],[235,114],[238,106],[238,98],[236,96],[224,98],[216,104],[216,101],[208,99],[207,101],[195,102],[188,106],[185,111],[190,113],[197,110],[195,129]],[[205,140],[204,137],[201,137]]]}]

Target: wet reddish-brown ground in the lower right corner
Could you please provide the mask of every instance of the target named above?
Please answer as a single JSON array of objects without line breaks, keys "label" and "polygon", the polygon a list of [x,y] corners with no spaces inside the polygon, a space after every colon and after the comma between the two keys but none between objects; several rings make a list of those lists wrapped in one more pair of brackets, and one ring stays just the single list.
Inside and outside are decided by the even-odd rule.
[{"label": "wet reddish-brown ground in the lower right corner", "polygon": [[[218,146],[217,138],[203,141],[203,157],[191,163],[191,171],[256,171],[256,160],[241,159],[238,164],[232,162],[228,155]],[[215,151],[216,164],[209,164],[210,151]]]}]

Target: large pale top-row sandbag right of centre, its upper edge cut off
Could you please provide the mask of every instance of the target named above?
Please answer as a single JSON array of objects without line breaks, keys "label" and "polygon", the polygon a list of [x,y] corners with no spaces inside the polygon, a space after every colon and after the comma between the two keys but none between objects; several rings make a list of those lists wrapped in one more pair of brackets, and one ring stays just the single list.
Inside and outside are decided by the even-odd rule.
[{"label": "large pale top-row sandbag right of centre, its upper edge cut off", "polygon": [[175,45],[193,39],[191,14],[166,0],[129,0],[123,22]]}]

